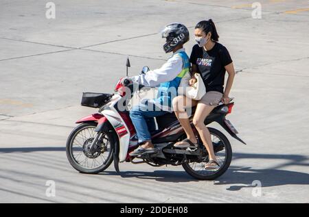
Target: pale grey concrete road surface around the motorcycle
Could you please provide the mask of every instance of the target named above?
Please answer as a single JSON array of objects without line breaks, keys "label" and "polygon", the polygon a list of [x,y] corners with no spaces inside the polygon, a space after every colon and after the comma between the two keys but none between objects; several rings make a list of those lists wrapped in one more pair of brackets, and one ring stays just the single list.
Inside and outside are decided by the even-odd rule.
[{"label": "pale grey concrete road surface around the motorcycle", "polygon": [[[55,19],[45,17],[46,3],[0,1],[1,203],[309,202],[308,1],[261,0],[261,19],[242,0],[54,0]],[[238,71],[228,118],[248,144],[229,136],[227,173],[197,181],[172,166],[125,163],[122,177],[113,166],[100,175],[73,170],[67,136],[97,112],[79,105],[82,92],[112,92],[127,56],[130,75],[161,66],[168,55],[158,32],[168,23],[190,27],[190,54],[194,25],[206,18]]]}]

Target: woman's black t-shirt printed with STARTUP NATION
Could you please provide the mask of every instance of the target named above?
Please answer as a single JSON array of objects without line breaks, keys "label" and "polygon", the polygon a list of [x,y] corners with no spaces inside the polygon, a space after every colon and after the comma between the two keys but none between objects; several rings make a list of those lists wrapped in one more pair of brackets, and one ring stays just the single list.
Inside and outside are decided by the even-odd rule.
[{"label": "woman's black t-shirt printed with STARTUP NATION", "polygon": [[203,78],[206,92],[218,91],[223,93],[225,84],[225,66],[232,62],[229,51],[220,43],[205,51],[195,44],[190,56],[190,62],[197,66],[198,73]]}]

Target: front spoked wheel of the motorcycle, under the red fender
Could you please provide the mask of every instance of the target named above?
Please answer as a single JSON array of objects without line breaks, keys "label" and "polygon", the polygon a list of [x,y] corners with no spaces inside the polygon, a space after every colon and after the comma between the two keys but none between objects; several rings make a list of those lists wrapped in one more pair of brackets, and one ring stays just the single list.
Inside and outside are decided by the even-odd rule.
[{"label": "front spoked wheel of the motorcycle, under the red fender", "polygon": [[94,149],[90,146],[97,132],[96,123],[82,123],[71,132],[67,140],[67,158],[80,173],[100,173],[113,162],[115,140],[109,132],[101,132]]}]

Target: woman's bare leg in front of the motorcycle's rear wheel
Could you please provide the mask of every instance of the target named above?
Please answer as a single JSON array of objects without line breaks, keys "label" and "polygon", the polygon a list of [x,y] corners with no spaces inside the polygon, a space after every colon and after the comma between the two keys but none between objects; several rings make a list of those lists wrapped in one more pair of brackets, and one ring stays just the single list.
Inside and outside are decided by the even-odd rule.
[{"label": "woman's bare leg in front of the motorcycle's rear wheel", "polygon": [[200,134],[201,140],[209,153],[209,160],[212,159],[216,161],[216,155],[214,153],[214,146],[212,145],[211,142],[211,136],[209,130],[204,124],[205,118],[208,116],[211,110],[214,109],[214,107],[216,106],[198,103],[193,118],[193,124],[196,127],[198,133]]}]

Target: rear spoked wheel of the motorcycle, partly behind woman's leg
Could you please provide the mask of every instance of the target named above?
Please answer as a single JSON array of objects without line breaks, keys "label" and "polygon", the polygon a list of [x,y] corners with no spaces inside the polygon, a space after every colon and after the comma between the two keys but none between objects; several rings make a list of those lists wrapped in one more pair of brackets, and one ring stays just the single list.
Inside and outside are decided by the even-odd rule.
[{"label": "rear spoked wheel of the motorcycle, partly behind woman's leg", "polygon": [[217,129],[208,127],[211,141],[214,145],[214,152],[216,154],[217,162],[220,167],[214,170],[206,170],[205,164],[209,161],[207,150],[203,144],[200,148],[203,151],[202,159],[194,162],[185,162],[183,168],[185,171],[196,179],[211,180],[220,177],[229,168],[232,158],[232,149],[227,137]]}]

